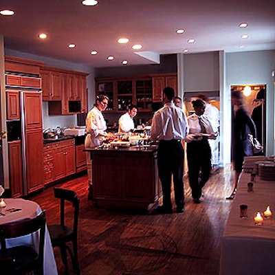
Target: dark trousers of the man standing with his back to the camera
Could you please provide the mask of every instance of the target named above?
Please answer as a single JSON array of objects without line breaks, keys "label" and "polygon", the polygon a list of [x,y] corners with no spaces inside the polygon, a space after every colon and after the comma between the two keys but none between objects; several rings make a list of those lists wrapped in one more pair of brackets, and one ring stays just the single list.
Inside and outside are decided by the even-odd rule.
[{"label": "dark trousers of the man standing with his back to the camera", "polygon": [[163,206],[172,208],[171,181],[173,175],[175,203],[184,207],[184,149],[180,140],[160,141],[157,149],[159,179],[162,181]]}]

